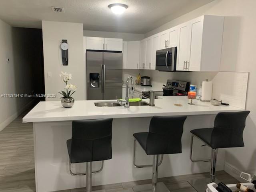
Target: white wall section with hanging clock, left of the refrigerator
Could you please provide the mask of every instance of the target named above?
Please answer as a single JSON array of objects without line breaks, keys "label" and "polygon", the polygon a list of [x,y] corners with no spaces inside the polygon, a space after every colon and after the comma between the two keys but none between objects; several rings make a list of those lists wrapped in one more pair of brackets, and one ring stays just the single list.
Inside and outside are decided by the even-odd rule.
[{"label": "white wall section with hanging clock, left of the refrigerator", "polygon": [[[75,100],[85,100],[85,62],[83,53],[83,24],[68,22],[42,21],[43,46],[44,46],[44,80],[46,94],[56,94],[64,90],[64,82],[60,80],[60,72],[73,74],[69,83],[77,86],[73,97]],[[68,41],[68,66],[62,65],[60,44],[62,39]],[[47,73],[52,73],[52,78],[47,78]]]}]

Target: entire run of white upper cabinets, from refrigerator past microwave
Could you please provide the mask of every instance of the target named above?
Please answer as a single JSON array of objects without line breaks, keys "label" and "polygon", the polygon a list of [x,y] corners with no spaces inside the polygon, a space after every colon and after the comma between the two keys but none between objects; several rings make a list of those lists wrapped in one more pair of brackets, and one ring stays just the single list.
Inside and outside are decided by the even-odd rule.
[{"label": "entire run of white upper cabinets, from refrigerator past microwave", "polygon": [[219,71],[224,17],[203,15],[141,41],[86,37],[86,49],[123,52],[124,69],[156,69],[156,50],[177,47],[177,71]]}]

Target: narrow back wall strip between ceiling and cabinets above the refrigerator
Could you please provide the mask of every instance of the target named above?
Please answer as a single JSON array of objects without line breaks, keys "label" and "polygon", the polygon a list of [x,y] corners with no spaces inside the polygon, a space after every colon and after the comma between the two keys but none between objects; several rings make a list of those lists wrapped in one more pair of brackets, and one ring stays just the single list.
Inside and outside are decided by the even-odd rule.
[{"label": "narrow back wall strip between ceiling and cabinets above the refrigerator", "polygon": [[144,34],[119,33],[119,32],[107,32],[107,31],[88,31],[88,30],[84,30],[84,36],[121,38],[124,41],[137,41],[137,40],[142,40],[144,38]]}]

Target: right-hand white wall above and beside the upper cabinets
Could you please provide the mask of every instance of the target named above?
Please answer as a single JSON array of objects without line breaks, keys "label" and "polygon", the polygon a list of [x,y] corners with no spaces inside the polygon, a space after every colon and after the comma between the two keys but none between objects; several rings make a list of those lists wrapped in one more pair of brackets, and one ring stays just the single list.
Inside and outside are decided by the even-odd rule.
[{"label": "right-hand white wall above and beside the upper cabinets", "polygon": [[220,70],[250,72],[246,109],[251,111],[244,130],[245,147],[226,150],[226,168],[234,168],[235,172],[242,170],[254,174],[256,174],[255,7],[255,0],[215,0],[145,35],[148,37],[203,14],[225,16]]}]

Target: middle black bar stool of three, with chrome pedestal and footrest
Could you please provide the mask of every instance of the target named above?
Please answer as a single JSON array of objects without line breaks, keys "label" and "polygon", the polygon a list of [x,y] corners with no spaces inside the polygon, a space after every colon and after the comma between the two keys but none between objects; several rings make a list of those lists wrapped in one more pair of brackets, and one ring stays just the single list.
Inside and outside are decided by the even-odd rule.
[{"label": "middle black bar stool of three, with chrome pedestal and footrest", "polygon": [[[152,190],[152,192],[169,192],[164,183],[157,183],[158,166],[162,163],[163,154],[181,153],[181,136],[186,116],[154,116],[150,121],[149,132],[140,132],[134,136],[134,166],[136,168],[153,167],[152,185],[133,186],[134,192]],[[146,154],[154,155],[152,165],[136,165],[136,140]],[[158,162],[158,155],[161,156]]]}]

